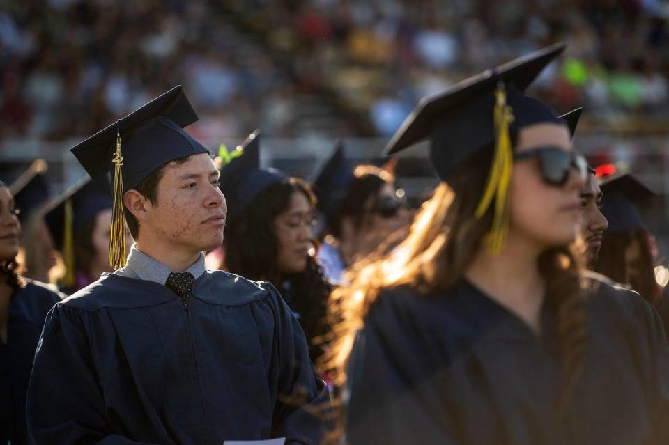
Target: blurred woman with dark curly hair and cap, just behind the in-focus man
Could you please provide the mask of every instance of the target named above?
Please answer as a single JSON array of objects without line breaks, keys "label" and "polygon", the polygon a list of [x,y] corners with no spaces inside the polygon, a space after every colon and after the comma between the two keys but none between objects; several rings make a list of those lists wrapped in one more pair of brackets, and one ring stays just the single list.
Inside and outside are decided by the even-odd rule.
[{"label": "blurred woman with dark curly hair and cap, just behind the in-focus man", "polygon": [[314,258],[316,196],[299,178],[260,169],[259,136],[252,136],[243,144],[243,155],[221,166],[228,215],[220,268],[272,283],[298,318],[316,361],[332,290]]}]

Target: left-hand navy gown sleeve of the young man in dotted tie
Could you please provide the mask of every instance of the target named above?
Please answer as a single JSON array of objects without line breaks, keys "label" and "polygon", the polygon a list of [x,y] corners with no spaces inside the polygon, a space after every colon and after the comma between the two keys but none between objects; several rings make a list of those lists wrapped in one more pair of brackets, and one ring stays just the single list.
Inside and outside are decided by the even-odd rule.
[{"label": "left-hand navy gown sleeve of the young man in dotted tie", "polygon": [[56,304],[37,348],[27,396],[35,444],[140,444],[111,434],[86,336],[86,311]]}]

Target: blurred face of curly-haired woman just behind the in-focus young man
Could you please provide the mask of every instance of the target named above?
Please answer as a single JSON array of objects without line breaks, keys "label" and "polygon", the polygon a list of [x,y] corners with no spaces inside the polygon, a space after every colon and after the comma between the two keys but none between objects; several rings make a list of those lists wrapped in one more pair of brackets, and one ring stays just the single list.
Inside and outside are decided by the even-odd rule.
[{"label": "blurred face of curly-haired woman just behind the in-focus young man", "polygon": [[314,247],[314,209],[300,190],[293,191],[289,208],[274,220],[277,238],[277,270],[300,274],[307,267],[309,250]]}]

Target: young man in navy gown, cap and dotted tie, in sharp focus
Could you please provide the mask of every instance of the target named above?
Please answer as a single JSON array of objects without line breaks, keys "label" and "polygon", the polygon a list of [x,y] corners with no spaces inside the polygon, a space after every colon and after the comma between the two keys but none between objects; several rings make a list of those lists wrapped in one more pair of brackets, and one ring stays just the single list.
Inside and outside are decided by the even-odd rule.
[{"label": "young man in navy gown, cap and dotted tie, in sharp focus", "polygon": [[124,267],[47,317],[27,400],[37,444],[320,441],[328,395],[289,307],[269,283],[204,269],[226,205],[183,130],[195,120],[178,86],[72,148],[92,178],[112,165],[110,260]]}]

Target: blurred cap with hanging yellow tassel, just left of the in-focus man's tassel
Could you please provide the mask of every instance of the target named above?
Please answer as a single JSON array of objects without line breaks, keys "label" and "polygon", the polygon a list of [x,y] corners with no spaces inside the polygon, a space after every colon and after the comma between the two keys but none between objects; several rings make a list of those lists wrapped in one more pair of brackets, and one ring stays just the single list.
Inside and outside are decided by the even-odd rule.
[{"label": "blurred cap with hanging yellow tassel, just left of the in-focus man's tassel", "polygon": [[75,236],[107,209],[112,209],[112,187],[107,175],[98,180],[86,176],[47,205],[45,221],[66,265],[65,286],[74,284]]}]

